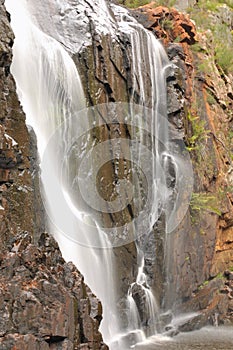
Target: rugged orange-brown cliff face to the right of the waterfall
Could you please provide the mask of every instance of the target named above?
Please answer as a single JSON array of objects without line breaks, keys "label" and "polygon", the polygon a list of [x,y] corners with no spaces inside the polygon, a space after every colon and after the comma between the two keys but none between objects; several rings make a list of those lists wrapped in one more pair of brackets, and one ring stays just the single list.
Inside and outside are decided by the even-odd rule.
[{"label": "rugged orange-brown cliff face to the right of the waterfall", "polygon": [[[176,301],[182,310],[202,309],[204,317],[193,327],[211,322],[214,313],[227,322],[232,320],[233,295],[224,275],[233,267],[232,69],[226,71],[218,62],[210,30],[197,32],[188,15],[154,5],[133,13],[163,40],[170,60],[179,67],[168,82],[168,113],[185,137],[195,176],[190,212],[168,242],[165,303]],[[212,25],[221,23],[232,30],[230,8],[219,7],[209,16]]]}]

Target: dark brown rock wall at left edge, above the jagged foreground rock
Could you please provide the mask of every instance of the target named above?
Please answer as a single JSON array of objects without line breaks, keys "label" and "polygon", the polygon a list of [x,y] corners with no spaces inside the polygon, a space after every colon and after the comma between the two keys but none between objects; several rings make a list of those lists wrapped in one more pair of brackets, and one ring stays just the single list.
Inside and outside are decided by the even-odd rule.
[{"label": "dark brown rock wall at left edge, above the jagged foreground rock", "polygon": [[0,41],[0,236],[1,251],[11,236],[34,226],[29,135],[10,74],[13,33],[1,1]]}]

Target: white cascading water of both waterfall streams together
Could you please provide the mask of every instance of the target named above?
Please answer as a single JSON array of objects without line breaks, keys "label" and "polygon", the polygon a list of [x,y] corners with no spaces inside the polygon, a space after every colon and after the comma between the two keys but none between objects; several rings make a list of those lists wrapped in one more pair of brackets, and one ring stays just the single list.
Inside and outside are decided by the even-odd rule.
[{"label": "white cascading water of both waterfall streams together", "polygon": [[[79,30],[75,26],[76,17],[79,16],[82,17],[82,22],[86,27],[88,27],[87,22],[90,17],[92,21],[96,21],[97,31],[100,34],[110,34],[115,39],[122,33],[128,35],[132,56],[132,90],[139,94],[138,102],[141,105],[150,107],[149,112],[147,110],[148,124],[146,125],[146,121],[139,118],[135,125],[143,130],[146,129],[151,134],[149,143],[150,154],[152,154],[150,161],[145,157],[145,147],[141,146],[134,150],[136,153],[134,159],[137,163],[142,168],[150,169],[149,182],[151,184],[150,215],[145,215],[142,227],[139,223],[132,226],[132,230],[138,230],[136,234],[132,233],[132,237],[136,238],[152,229],[162,209],[165,208],[169,195],[166,176],[160,165],[161,159],[166,158],[165,151],[168,144],[166,69],[169,62],[162,46],[153,34],[147,32],[132,19],[125,9],[112,6],[117,19],[115,21],[104,0],[101,0],[99,16],[90,8],[86,9],[87,5],[92,2],[92,0],[88,2],[80,0],[77,4],[72,0],[67,2],[54,0],[54,3],[50,3],[43,0],[38,3],[34,0],[22,0],[15,6],[13,0],[7,0],[7,8],[12,16],[12,26],[16,35],[12,72],[17,82],[18,94],[27,116],[27,122],[33,126],[37,134],[38,148],[43,158],[42,179],[46,193],[46,208],[51,218],[51,231],[60,242],[64,257],[76,263],[85,275],[86,282],[103,303],[104,340],[111,344],[111,349],[126,350],[131,344],[142,341],[146,337],[145,327],[142,326],[135,299],[135,288],[139,288],[145,298],[149,335],[157,331],[159,308],[145,275],[144,254],[140,242],[137,241],[138,273],[136,280],[129,285],[128,294],[125,296],[129,305],[128,326],[122,332],[119,324],[120,310],[117,307],[115,293],[118,280],[115,272],[115,256],[111,249],[112,236],[111,234],[108,236],[98,220],[91,213],[87,213],[83,201],[71,195],[71,192],[76,193],[73,191],[76,181],[82,181],[84,192],[86,191],[85,180],[92,175],[91,172],[94,169],[91,158],[86,157],[86,163],[83,161],[83,153],[88,147],[91,147],[92,140],[82,141],[78,152],[75,149],[76,144],[73,147],[72,142],[78,138],[82,139],[83,133],[93,127],[96,120],[94,122],[91,120],[89,110],[85,109],[78,113],[86,107],[85,98],[78,71],[64,46],[69,52],[75,52],[77,48],[89,45],[88,33],[81,32],[80,36],[77,35],[77,40],[70,34],[73,29]],[[78,6],[78,10],[73,11],[72,6]],[[42,8],[46,9],[46,13],[42,12]],[[84,15],[84,10],[88,14],[87,17]],[[54,23],[49,23],[49,13],[53,16]],[[42,30],[41,18],[43,16],[47,18],[45,21],[47,22],[46,33]],[[68,29],[69,25],[72,28],[71,32]],[[63,42],[64,46],[59,41]],[[148,69],[142,69],[142,67]],[[148,79],[151,83],[149,91]],[[132,101],[133,99],[130,102]],[[131,112],[134,114],[133,108]],[[93,113],[95,114],[95,111]],[[139,134],[138,140],[142,138],[143,135]],[[117,154],[121,152],[117,145],[115,148]],[[85,169],[82,179],[73,169],[74,167],[70,166],[71,160],[74,163],[74,156],[75,159],[78,159],[79,166],[85,165],[88,168],[87,172]],[[167,161],[164,164],[166,167]],[[60,176],[62,171],[64,173]],[[71,184],[70,178],[74,179]],[[121,183],[119,191],[120,189]],[[94,189],[91,192],[94,192]],[[85,197],[82,191],[78,195],[80,198]],[[92,197],[90,198],[92,201]],[[100,205],[100,200],[97,201],[97,205]],[[115,231],[112,231],[114,236]],[[81,242],[82,246],[75,242]],[[136,335],[132,342],[129,342],[128,339],[124,340],[128,334],[133,333]]]}]

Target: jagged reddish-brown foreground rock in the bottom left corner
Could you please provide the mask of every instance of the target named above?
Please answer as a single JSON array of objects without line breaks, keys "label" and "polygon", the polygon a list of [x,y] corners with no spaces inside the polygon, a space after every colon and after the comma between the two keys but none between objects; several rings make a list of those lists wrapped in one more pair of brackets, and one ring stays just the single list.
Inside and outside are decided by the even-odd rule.
[{"label": "jagged reddish-brown foreground rock in the bottom left corner", "polygon": [[101,304],[81,274],[51,236],[31,240],[22,233],[1,254],[1,349],[107,349]]}]

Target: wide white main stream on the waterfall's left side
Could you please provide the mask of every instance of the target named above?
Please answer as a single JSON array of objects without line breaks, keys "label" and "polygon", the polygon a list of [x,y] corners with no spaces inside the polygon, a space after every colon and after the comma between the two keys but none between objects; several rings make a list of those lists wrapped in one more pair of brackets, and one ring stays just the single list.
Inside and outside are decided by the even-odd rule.
[{"label": "wide white main stream on the waterfall's left side", "polygon": [[[51,220],[50,230],[59,241],[66,260],[76,263],[104,305],[112,305],[110,311],[107,307],[104,308],[106,337],[111,337],[112,333],[117,333],[115,329],[117,322],[114,321],[117,312],[114,306],[112,252],[109,249],[98,250],[79,246],[63,235],[66,231],[79,230],[85,238],[86,232],[85,228],[82,228],[82,222],[77,226],[70,213],[70,207],[64,203],[59,190],[54,191],[54,186],[57,189],[61,187],[57,176],[59,171],[57,162],[60,164],[65,152],[56,155],[53,150],[50,153],[46,147],[60,125],[64,128],[56,141],[61,144],[62,149],[65,150],[68,145],[72,132],[76,133],[69,127],[69,120],[86,106],[79,74],[63,46],[41,31],[32,21],[29,12],[30,3],[22,1],[16,8],[14,1],[8,0],[6,5],[11,13],[11,24],[16,33],[11,70],[17,83],[17,92],[26,113],[27,123],[36,132],[39,154],[42,159],[44,158],[41,176],[46,192],[46,209]],[[77,126],[79,129],[81,127]],[[103,236],[100,239],[102,239],[100,246],[108,246]],[[86,238],[86,245],[92,244],[89,238]],[[93,266],[98,266],[98,269],[93,269]],[[103,283],[105,279],[107,287]],[[108,331],[109,324],[111,332]]]}]

